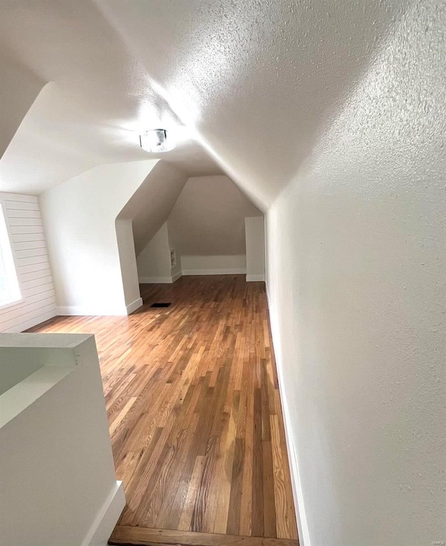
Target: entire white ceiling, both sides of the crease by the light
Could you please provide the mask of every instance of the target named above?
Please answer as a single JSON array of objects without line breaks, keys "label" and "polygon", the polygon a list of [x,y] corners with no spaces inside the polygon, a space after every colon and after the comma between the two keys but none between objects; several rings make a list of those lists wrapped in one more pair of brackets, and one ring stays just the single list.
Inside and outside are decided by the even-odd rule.
[{"label": "entire white ceiling, both sides of the crease by the light", "polygon": [[265,209],[404,8],[405,0],[3,0],[2,49],[52,83],[1,159],[0,190],[38,194],[96,164],[157,157],[139,149],[138,132],[185,123],[220,166],[197,141],[163,159],[191,175],[223,168]]}]

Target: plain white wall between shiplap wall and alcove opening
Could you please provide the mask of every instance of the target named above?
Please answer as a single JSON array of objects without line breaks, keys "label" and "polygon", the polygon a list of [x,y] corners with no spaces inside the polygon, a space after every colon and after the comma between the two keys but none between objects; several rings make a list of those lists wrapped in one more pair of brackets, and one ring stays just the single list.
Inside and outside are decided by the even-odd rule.
[{"label": "plain white wall between shiplap wall and alcove opening", "polygon": [[[40,196],[58,314],[123,315],[134,310],[138,300],[129,298],[138,290],[136,267],[132,263],[130,271],[121,270],[116,234],[116,228],[123,228],[120,242],[127,241],[125,256],[134,260],[129,226],[115,225],[115,219],[156,163],[101,165]],[[133,285],[127,297],[123,279]]]}]

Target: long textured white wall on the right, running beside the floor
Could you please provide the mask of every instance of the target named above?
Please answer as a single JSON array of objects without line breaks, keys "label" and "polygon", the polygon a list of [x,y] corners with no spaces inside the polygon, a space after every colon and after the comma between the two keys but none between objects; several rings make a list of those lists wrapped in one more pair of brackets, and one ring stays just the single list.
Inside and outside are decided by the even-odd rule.
[{"label": "long textured white wall on the right, running beside the floor", "polygon": [[406,14],[268,211],[305,546],[446,536],[445,26]]}]

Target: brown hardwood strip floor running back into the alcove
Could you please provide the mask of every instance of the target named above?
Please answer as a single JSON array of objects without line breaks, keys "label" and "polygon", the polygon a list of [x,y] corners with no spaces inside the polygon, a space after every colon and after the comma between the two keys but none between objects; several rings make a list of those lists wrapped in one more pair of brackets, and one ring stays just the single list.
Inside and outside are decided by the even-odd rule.
[{"label": "brown hardwood strip floor running back into the alcove", "polygon": [[141,285],[141,296],[128,317],[59,317],[31,330],[95,334],[128,503],[111,543],[205,545],[225,533],[296,545],[263,283],[189,276]]}]

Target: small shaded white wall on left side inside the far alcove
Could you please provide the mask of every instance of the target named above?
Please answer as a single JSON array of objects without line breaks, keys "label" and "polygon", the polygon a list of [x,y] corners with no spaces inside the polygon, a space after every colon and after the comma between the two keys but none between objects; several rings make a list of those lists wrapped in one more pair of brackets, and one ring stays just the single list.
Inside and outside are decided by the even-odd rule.
[{"label": "small shaded white wall on left side inside the far alcove", "polygon": [[171,283],[167,222],[164,222],[137,258],[140,283]]}]

